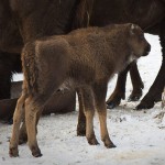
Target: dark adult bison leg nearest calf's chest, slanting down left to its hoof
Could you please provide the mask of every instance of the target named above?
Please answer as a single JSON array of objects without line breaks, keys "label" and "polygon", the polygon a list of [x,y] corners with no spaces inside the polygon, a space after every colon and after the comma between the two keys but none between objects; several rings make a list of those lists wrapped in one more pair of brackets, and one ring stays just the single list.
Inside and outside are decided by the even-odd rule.
[{"label": "dark adult bison leg nearest calf's chest, slanting down left to its hoof", "polygon": [[125,99],[125,82],[130,65],[118,75],[116,89],[107,100],[108,108],[112,109],[120,105],[121,99]]}]

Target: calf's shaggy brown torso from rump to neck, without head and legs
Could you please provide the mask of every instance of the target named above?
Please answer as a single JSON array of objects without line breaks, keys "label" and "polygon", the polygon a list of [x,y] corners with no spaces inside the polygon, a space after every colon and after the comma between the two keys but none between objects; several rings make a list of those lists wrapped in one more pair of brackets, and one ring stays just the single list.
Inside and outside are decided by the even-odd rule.
[{"label": "calf's shaggy brown torso from rump to neck, without head and legs", "polygon": [[72,79],[74,86],[108,79],[131,55],[130,24],[76,30],[28,43],[23,70],[30,92],[45,92]]}]

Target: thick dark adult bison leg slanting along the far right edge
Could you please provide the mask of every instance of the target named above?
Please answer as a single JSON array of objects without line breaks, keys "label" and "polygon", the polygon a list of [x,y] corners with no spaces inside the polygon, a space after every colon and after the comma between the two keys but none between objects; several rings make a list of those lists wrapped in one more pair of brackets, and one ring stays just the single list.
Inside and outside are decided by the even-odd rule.
[{"label": "thick dark adult bison leg slanting along the far right edge", "polygon": [[142,99],[141,103],[136,107],[136,109],[150,109],[154,107],[156,101],[161,100],[163,88],[165,87],[165,20],[163,20],[161,24],[161,45],[163,53],[162,66],[158,72],[158,75],[150,88],[148,92]]}]

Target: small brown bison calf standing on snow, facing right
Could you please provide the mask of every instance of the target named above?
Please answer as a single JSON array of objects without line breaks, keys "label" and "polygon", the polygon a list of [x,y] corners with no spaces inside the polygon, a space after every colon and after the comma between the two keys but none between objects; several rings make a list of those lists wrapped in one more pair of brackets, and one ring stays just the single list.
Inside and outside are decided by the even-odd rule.
[{"label": "small brown bison calf standing on snow, facing right", "polygon": [[44,37],[28,43],[22,52],[24,82],[18,100],[10,141],[10,156],[18,156],[19,127],[25,108],[28,141],[33,156],[41,156],[36,124],[48,98],[58,88],[81,92],[86,138],[98,144],[94,131],[97,109],[101,140],[114,147],[107,130],[106,94],[109,79],[130,62],[147,55],[150,44],[134,24],[77,30],[68,35]]}]

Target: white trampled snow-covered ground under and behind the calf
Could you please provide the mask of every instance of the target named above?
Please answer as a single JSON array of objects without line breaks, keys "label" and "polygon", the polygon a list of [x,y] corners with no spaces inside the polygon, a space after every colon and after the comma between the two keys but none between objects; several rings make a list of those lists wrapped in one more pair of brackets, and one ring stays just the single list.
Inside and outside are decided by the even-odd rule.
[{"label": "white trampled snow-covered ground under and behind the calf", "polygon": [[[139,61],[144,81],[144,94],[148,90],[161,66],[162,55],[158,37],[146,34],[152,44],[148,56]],[[16,79],[18,77],[15,77]],[[108,96],[116,84],[109,84]],[[127,97],[132,90],[130,78]],[[151,110],[135,111],[139,103],[123,100],[120,107],[108,110],[108,130],[116,148],[106,148],[100,141],[99,121],[95,118],[95,131],[100,145],[90,146],[86,138],[76,135],[78,112],[43,117],[38,123],[38,145],[43,156],[34,158],[28,145],[19,146],[20,157],[8,155],[12,125],[0,123],[0,165],[165,165],[165,118],[154,118],[161,109],[156,103]]]}]

